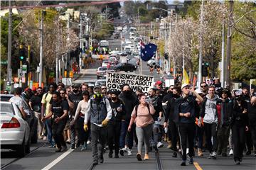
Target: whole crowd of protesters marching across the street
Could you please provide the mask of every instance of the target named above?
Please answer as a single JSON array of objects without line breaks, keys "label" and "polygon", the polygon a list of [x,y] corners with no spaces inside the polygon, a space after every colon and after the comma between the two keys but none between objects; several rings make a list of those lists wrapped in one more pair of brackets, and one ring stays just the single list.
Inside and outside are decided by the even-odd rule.
[{"label": "whole crowd of protesters marching across the street", "polygon": [[67,144],[71,149],[81,146],[81,151],[91,145],[93,164],[104,162],[106,145],[110,158],[132,155],[136,146],[142,161],[143,145],[147,160],[149,152],[164,146],[163,140],[173,150],[172,157],[181,155],[181,166],[187,155],[188,164],[193,164],[193,157],[202,157],[206,150],[209,159],[233,155],[235,164],[253,148],[256,157],[254,89],[230,91],[206,82],[198,89],[190,84],[163,89],[156,81],[149,96],[132,91],[129,84],[111,91],[104,85],[52,83],[43,90],[26,89],[10,101],[21,106],[22,97],[28,103],[38,118],[38,137],[55,152],[65,151]]}]

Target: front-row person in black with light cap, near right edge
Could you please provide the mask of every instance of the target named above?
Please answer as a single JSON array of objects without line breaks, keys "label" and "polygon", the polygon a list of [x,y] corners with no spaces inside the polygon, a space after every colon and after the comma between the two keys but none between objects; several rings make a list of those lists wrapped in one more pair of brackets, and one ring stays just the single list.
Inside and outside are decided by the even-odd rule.
[{"label": "front-row person in black with light cap, near right edge", "polygon": [[242,99],[242,91],[235,91],[233,102],[228,103],[231,116],[231,130],[234,143],[235,164],[242,162],[245,147],[245,131],[248,129],[247,103]]}]

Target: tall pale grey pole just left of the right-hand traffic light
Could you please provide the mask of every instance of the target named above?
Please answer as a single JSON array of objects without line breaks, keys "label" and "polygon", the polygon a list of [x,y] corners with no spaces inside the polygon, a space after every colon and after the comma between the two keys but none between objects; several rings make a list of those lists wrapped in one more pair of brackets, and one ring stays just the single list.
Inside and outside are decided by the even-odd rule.
[{"label": "tall pale grey pole just left of the right-hand traffic light", "polygon": [[198,64],[198,85],[202,81],[202,64],[203,64],[203,0],[200,14],[200,47],[199,47],[199,64]]}]

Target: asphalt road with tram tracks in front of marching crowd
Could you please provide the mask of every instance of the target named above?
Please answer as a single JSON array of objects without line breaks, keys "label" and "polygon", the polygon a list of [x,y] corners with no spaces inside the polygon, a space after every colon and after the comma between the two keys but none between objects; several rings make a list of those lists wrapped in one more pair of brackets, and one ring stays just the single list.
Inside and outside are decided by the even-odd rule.
[{"label": "asphalt road with tram tracks in front of marching crowd", "polygon": [[[70,146],[70,145],[68,145]],[[38,148],[37,148],[38,147]],[[22,159],[16,159],[14,152],[1,152],[1,169],[90,169],[92,164],[92,152],[90,147],[85,151],[77,149],[68,149],[65,152],[55,153],[55,149],[48,148],[45,141],[40,141],[33,145],[31,149],[37,148],[31,154]],[[136,159],[137,148],[133,148],[133,155],[124,157],[119,156],[118,159],[108,158],[108,151],[104,154],[105,162],[98,164],[93,169],[157,169],[156,155],[149,152],[149,160],[138,162]],[[142,152],[143,153],[143,152]],[[194,164],[180,166],[181,158],[171,157],[171,149],[164,147],[159,149],[159,158],[162,169],[227,169],[227,170],[249,170],[256,168],[255,157],[245,156],[242,164],[235,165],[233,157],[217,157],[217,159],[208,159],[208,153],[204,152],[205,157],[195,157]],[[14,161],[14,162],[13,162]],[[11,162],[11,164],[9,164]],[[8,166],[2,168],[4,165]]]}]

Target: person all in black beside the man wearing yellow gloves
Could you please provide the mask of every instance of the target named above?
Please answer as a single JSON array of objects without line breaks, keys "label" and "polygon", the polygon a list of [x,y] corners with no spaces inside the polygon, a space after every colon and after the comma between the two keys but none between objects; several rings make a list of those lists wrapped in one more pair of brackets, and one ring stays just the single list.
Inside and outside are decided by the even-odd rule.
[{"label": "person all in black beside the man wearing yellow gloves", "polygon": [[[114,149],[114,158],[118,158],[119,152],[119,137],[121,132],[121,120],[125,117],[124,103],[118,98],[119,92],[111,92],[110,105],[112,108],[112,118],[107,127],[107,141],[110,148],[109,157],[112,158]],[[114,147],[113,147],[114,144]]]}]

